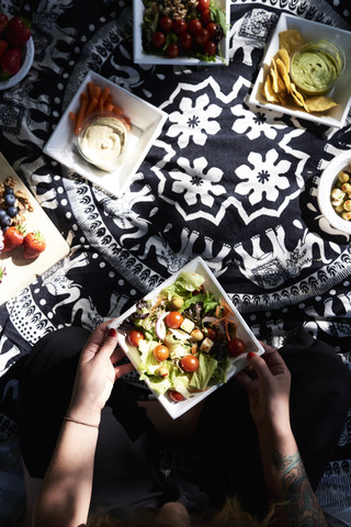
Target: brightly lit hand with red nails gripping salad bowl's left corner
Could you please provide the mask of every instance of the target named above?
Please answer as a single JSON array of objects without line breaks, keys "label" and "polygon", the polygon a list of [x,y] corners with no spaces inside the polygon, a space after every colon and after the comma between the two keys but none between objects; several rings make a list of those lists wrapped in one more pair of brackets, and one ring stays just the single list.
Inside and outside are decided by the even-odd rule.
[{"label": "brightly lit hand with red nails gripping salad bowl's left corner", "polygon": [[[98,326],[81,351],[69,416],[88,423],[100,423],[100,413],[105,405],[116,379],[134,369],[131,362],[114,367],[124,352],[117,348],[117,333],[109,329],[111,321]],[[98,423],[95,423],[98,424]]]}]

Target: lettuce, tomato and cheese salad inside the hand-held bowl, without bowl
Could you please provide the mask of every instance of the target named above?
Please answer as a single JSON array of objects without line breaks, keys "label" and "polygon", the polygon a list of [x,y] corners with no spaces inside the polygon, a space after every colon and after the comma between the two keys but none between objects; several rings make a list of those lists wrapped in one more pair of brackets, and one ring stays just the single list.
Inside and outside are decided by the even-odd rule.
[{"label": "lettuce, tomato and cheese salad inside the hand-held bowl, without bowl", "polygon": [[237,337],[230,306],[204,287],[204,277],[182,271],[154,300],[141,300],[123,323],[140,354],[140,380],[174,402],[224,383],[246,344]]}]

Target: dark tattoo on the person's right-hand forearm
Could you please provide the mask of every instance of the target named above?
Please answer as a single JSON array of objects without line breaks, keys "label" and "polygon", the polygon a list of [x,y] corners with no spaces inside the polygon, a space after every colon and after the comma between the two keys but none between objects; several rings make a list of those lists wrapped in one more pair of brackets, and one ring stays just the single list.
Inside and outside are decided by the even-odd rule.
[{"label": "dark tattoo on the person's right-hand forearm", "polygon": [[325,516],[316,495],[309,484],[299,452],[284,456],[273,451],[273,466],[281,473],[284,502],[287,505],[287,516],[293,526],[327,527]]}]

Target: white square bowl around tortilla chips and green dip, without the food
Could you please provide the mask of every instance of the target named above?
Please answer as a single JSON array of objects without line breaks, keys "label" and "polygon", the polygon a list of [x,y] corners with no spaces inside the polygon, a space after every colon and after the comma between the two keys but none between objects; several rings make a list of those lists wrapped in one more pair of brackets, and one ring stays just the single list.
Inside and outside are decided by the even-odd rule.
[{"label": "white square bowl around tortilla chips and green dip, without the food", "polygon": [[[331,93],[332,99],[338,103],[337,106],[328,110],[325,113],[308,113],[302,110],[296,110],[295,106],[282,106],[267,102],[260,93],[260,88],[263,81],[264,66],[271,64],[272,57],[279,49],[279,34],[286,30],[299,31],[306,41],[325,40],[337,44],[344,53],[346,67],[342,75],[338,79],[335,89]],[[276,112],[286,113],[298,119],[305,119],[315,123],[327,126],[342,127],[347,119],[351,103],[351,33],[349,31],[339,30],[331,25],[320,24],[306,19],[301,19],[291,14],[281,14],[272,38],[270,41],[267,53],[261,63],[259,75],[252,88],[249,98],[249,104],[269,108]]]}]

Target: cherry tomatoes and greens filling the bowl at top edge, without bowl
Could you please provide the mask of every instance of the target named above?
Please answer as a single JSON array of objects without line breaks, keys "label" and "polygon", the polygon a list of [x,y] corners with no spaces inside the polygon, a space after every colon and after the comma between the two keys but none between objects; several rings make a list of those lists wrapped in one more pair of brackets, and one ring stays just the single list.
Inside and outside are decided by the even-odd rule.
[{"label": "cherry tomatoes and greens filling the bowl at top edge, without bowl", "polygon": [[143,49],[168,58],[196,57],[214,61],[222,56],[226,13],[214,0],[144,0]]}]

